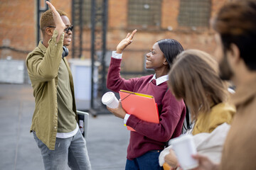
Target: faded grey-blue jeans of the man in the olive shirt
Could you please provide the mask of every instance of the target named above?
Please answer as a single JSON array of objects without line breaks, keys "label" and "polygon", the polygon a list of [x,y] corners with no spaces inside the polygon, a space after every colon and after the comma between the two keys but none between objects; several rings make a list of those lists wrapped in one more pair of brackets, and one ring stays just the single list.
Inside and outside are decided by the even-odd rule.
[{"label": "faded grey-blue jeans of the man in the olive shirt", "polygon": [[43,164],[46,170],[65,170],[68,166],[71,169],[91,170],[91,164],[87,153],[85,138],[80,130],[73,137],[65,139],[56,138],[55,150],[50,150],[33,132],[36,143],[41,149]]}]

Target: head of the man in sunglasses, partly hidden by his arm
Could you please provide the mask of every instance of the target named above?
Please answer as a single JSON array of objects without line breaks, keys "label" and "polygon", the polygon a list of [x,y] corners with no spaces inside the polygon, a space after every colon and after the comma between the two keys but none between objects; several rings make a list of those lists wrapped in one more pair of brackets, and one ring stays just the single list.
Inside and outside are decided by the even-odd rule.
[{"label": "head of the man in sunglasses, partly hidden by his arm", "polygon": [[[58,9],[57,11],[60,14],[61,19],[63,20],[63,23],[66,26],[64,30],[65,37],[63,40],[63,45],[68,46],[70,45],[72,40],[73,26],[71,27],[71,23],[67,13]],[[53,35],[53,30],[55,29],[55,23],[53,19],[53,12],[50,9],[42,14],[40,19],[40,28],[43,33],[43,37],[46,37],[46,35],[51,37]]]}]

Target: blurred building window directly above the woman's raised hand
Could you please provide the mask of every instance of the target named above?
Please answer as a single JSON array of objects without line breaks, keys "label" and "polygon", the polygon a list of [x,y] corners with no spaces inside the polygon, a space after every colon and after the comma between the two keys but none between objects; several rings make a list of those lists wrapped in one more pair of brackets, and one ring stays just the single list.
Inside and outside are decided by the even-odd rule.
[{"label": "blurred building window directly above the woman's raised hand", "polygon": [[128,25],[159,28],[161,25],[161,0],[129,0]]}]

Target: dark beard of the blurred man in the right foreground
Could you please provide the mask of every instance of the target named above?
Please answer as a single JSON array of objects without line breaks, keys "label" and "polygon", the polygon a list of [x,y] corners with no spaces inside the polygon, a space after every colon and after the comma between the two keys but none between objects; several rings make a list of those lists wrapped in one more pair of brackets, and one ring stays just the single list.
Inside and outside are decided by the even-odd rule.
[{"label": "dark beard of the blurred man in the right foreground", "polygon": [[233,77],[233,72],[230,68],[230,64],[227,60],[227,55],[223,55],[223,59],[219,63],[220,79],[230,80]]}]

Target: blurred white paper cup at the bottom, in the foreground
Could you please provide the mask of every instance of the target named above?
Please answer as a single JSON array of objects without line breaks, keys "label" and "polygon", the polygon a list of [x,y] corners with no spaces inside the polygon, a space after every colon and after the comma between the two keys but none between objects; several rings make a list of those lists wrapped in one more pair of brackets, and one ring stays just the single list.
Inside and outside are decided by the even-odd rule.
[{"label": "blurred white paper cup at the bottom, in the foreground", "polygon": [[193,159],[192,154],[196,154],[196,145],[192,135],[181,135],[171,140],[174,152],[178,158],[178,163],[182,169],[193,169],[198,166],[198,161]]}]

